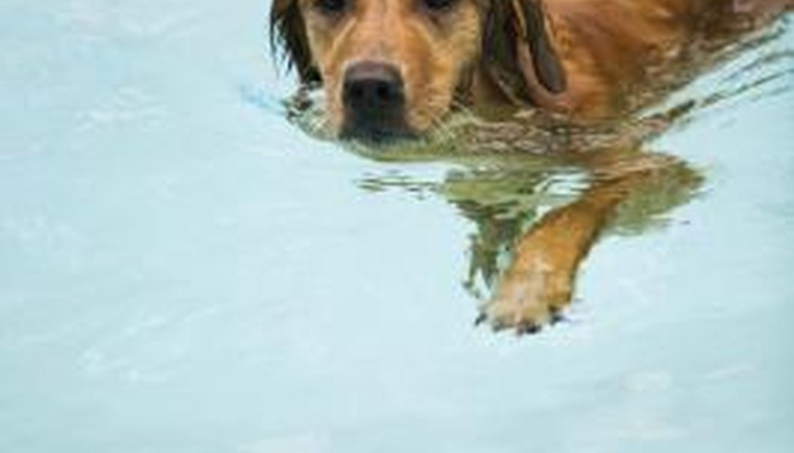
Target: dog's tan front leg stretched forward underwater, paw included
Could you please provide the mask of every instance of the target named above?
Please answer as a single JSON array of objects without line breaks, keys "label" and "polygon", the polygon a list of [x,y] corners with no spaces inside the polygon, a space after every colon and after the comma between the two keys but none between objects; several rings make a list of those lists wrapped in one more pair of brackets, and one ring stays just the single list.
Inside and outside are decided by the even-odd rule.
[{"label": "dog's tan front leg stretched forward underwater, paw included", "polygon": [[[675,160],[641,154],[612,162],[594,159],[595,182],[577,201],[550,211],[521,236],[481,321],[494,329],[531,333],[569,304],[579,263],[618,205],[650,179],[665,178]],[[589,165],[588,165],[589,166]]]}]

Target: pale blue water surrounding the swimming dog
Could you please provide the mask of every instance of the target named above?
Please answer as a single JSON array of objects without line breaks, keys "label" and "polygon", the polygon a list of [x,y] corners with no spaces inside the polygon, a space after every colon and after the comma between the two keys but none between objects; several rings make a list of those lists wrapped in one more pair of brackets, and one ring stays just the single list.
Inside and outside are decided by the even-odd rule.
[{"label": "pale blue water surrounding the swimming dog", "polygon": [[268,6],[0,5],[0,451],[791,450],[790,26],[677,94],[752,85],[647,145],[703,180],[517,338],[471,247],[579,171],[311,139]]}]

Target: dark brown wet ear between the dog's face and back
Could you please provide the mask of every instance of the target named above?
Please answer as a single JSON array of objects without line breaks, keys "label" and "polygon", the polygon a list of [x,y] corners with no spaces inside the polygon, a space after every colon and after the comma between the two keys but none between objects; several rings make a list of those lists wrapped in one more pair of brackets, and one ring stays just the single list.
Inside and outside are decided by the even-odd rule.
[{"label": "dark brown wet ear between the dog's face and back", "polygon": [[520,46],[531,55],[535,78],[551,94],[567,89],[565,70],[551,43],[541,0],[491,0],[485,15],[483,56],[496,82],[512,98],[532,101],[520,67]]}]

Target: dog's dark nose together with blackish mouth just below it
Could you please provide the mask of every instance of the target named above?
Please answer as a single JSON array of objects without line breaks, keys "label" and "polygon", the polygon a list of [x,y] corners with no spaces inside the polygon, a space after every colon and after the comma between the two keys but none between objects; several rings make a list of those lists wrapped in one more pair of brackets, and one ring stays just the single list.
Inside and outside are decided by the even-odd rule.
[{"label": "dog's dark nose together with blackish mouth just below it", "polygon": [[390,64],[362,62],[350,66],[345,72],[342,101],[346,135],[378,138],[405,130],[403,79]]}]

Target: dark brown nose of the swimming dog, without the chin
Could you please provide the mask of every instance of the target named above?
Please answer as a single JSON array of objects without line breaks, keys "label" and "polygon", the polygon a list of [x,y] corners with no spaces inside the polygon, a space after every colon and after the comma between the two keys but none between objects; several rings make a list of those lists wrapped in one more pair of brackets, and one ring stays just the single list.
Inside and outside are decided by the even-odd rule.
[{"label": "dark brown nose of the swimming dog, without the chin", "polygon": [[387,63],[350,66],[345,72],[342,96],[348,111],[362,118],[390,116],[405,104],[403,79],[397,68]]}]

